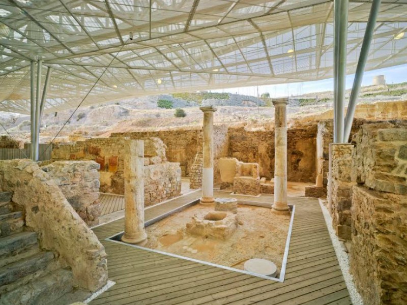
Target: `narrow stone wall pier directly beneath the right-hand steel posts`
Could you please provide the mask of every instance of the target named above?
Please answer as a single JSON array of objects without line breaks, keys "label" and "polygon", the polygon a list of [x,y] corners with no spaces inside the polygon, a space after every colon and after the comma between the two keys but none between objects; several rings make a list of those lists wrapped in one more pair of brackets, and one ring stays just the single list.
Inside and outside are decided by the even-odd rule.
[{"label": "narrow stone wall pier directly beneath the right-hand steel posts", "polygon": [[328,208],[332,216],[332,226],[339,238],[351,239],[351,206],[353,144],[330,144],[332,160]]}]

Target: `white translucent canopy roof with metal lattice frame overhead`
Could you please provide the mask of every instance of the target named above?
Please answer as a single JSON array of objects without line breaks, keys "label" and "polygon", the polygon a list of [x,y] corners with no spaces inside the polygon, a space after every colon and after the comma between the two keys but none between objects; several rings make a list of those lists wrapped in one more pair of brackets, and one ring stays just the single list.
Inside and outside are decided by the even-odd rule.
[{"label": "white translucent canopy roof with metal lattice frame overhead", "polygon": [[[370,6],[350,2],[347,73]],[[405,31],[407,0],[383,0],[366,69],[406,63]],[[42,59],[46,113],[76,107],[109,65],[82,105],[332,77],[333,1],[0,0],[0,40],[0,111],[30,113]]]}]

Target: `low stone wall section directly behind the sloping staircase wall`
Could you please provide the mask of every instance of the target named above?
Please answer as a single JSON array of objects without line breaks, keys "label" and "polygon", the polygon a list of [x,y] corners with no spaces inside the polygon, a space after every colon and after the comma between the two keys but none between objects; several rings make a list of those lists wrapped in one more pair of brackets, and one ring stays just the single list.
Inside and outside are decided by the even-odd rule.
[{"label": "low stone wall section directly behind the sloping staircase wall", "polygon": [[94,161],[55,161],[41,166],[88,226],[99,224],[99,168]]}]

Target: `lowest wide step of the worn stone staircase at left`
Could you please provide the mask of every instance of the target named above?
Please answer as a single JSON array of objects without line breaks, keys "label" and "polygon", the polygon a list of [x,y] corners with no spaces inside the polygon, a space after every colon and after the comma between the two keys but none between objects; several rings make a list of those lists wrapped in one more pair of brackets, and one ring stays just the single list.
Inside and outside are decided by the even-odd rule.
[{"label": "lowest wide step of the worn stone staircase at left", "polygon": [[57,269],[52,273],[33,279],[0,298],[0,303],[17,305],[55,304],[55,300],[66,295],[73,289],[72,271]]}]

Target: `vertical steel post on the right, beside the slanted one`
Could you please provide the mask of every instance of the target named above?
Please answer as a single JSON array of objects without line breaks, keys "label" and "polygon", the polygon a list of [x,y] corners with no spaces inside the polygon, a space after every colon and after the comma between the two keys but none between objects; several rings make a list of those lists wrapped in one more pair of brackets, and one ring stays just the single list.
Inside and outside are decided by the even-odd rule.
[{"label": "vertical steel post on the right, beside the slanted one", "polygon": [[334,0],[334,143],[343,141],[348,0]]}]

